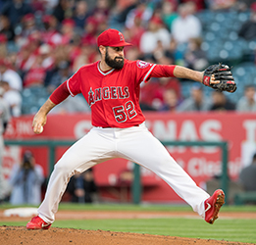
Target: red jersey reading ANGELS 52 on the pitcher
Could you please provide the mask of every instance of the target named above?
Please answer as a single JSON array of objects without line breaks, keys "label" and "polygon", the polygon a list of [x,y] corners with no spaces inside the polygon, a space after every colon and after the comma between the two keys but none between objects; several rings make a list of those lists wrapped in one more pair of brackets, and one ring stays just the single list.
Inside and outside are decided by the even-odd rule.
[{"label": "red jersey reading ANGELS 52 on the pitcher", "polygon": [[92,125],[129,127],[145,121],[139,107],[139,84],[150,78],[155,66],[125,60],[123,69],[103,73],[98,61],[81,67],[67,86],[72,96],[82,93],[86,99]]}]

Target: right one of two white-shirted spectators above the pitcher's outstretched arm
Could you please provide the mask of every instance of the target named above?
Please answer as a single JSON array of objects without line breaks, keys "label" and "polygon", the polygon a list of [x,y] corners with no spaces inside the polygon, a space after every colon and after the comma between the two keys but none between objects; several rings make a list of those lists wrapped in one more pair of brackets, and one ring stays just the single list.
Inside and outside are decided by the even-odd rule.
[{"label": "right one of two white-shirted spectators above the pitcher's outstretched arm", "polygon": [[173,22],[172,36],[180,43],[187,43],[190,38],[199,37],[202,26],[197,17],[191,14],[190,5],[180,4],[179,17]]}]

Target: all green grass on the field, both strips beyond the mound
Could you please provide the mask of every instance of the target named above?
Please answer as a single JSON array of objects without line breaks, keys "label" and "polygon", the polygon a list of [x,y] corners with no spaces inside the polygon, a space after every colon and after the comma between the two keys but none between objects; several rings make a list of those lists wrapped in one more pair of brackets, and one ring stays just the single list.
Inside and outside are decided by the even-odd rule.
[{"label": "all green grass on the field, both strips beyond the mound", "polygon": [[[1,209],[4,207],[2,206]],[[10,206],[5,206],[11,208]],[[191,211],[188,206],[168,205],[74,205],[61,204],[59,210],[90,210],[90,211]],[[222,212],[256,212],[255,206],[225,206]],[[0,225],[26,225],[26,221],[0,221]],[[79,220],[55,221],[55,227],[73,227],[79,229],[102,229],[111,231],[147,233],[191,237],[202,239],[217,239],[256,244],[256,221],[241,219],[220,219],[213,225],[201,219],[131,219],[131,220]]]}]

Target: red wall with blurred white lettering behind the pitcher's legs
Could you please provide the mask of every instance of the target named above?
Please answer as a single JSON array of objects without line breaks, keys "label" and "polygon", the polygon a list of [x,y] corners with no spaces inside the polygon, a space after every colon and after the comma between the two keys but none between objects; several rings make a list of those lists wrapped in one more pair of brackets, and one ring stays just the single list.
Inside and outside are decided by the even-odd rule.
[{"label": "red wall with blurred white lettering behind the pitcher's legs", "polygon": [[[149,130],[162,141],[228,141],[229,173],[236,180],[240,169],[250,164],[256,152],[256,115],[236,113],[145,113]],[[90,115],[49,115],[43,133],[35,135],[31,128],[32,116],[13,119],[6,139],[62,139],[77,140],[91,128]],[[33,152],[44,173],[49,174],[47,147],[26,147]],[[67,147],[57,149],[57,159]],[[19,162],[24,147],[6,147],[4,174],[8,178],[14,163]],[[168,147],[179,165],[202,187],[205,181],[222,170],[219,147]],[[156,153],[157,154],[157,153]],[[94,167],[95,179],[106,200],[127,201],[133,164],[117,159]],[[154,173],[141,168],[142,201],[176,202],[179,197]]]}]

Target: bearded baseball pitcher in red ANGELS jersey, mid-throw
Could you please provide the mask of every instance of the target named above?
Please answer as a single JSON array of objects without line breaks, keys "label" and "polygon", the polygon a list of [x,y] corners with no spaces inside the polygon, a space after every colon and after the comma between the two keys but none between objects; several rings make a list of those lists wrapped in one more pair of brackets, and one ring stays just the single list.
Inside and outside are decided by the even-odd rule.
[{"label": "bearded baseball pitcher in red ANGELS jersey, mid-throw", "polygon": [[47,114],[68,96],[81,93],[91,108],[92,129],[71,146],[51,173],[38,216],[26,224],[28,229],[48,229],[58,210],[69,179],[76,172],[114,158],[124,158],[155,172],[209,223],[218,218],[225,194],[216,190],[210,196],[199,188],[170,156],[166,148],[145,125],[139,108],[140,83],[150,77],[175,76],[192,79],[220,91],[234,92],[236,84],[230,68],[214,65],[205,72],[180,66],[128,61],[124,56],[123,33],[107,29],[97,38],[101,60],[84,65],[60,85],[34,116],[32,127],[41,132]]}]

